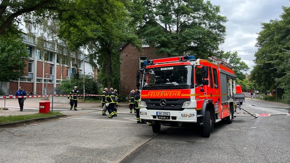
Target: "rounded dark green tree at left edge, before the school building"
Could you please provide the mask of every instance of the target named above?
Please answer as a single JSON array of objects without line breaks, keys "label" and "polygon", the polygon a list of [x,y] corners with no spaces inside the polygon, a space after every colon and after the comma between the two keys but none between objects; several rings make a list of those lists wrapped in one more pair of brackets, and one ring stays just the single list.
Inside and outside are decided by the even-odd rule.
[{"label": "rounded dark green tree at left edge, before the school building", "polygon": [[0,35],[1,82],[9,82],[24,75],[28,52],[19,35],[9,33]]}]

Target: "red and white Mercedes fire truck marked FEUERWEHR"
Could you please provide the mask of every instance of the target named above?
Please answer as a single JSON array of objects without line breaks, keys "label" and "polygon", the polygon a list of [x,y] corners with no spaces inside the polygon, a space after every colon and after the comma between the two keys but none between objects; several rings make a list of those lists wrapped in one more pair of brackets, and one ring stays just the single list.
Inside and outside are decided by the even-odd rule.
[{"label": "red and white Mercedes fire truck marked FEUERWEHR", "polygon": [[151,121],[153,132],[161,125],[202,126],[203,137],[209,137],[213,123],[232,123],[235,74],[232,66],[210,57],[161,58],[145,61],[137,71],[141,90],[140,118]]}]

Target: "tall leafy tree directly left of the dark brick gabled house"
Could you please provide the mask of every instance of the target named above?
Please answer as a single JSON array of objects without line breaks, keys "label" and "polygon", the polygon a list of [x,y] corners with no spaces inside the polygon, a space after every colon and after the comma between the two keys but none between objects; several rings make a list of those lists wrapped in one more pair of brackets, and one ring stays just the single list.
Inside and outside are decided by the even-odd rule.
[{"label": "tall leafy tree directly left of the dark brick gabled house", "polygon": [[[71,1],[61,13],[59,37],[72,50],[87,47],[90,59],[97,60],[99,78],[104,86],[119,85],[119,55],[124,42],[138,43],[136,29],[126,6],[129,1]],[[131,4],[132,5],[132,4]],[[134,6],[134,5],[133,5]],[[137,14],[136,14],[137,15]],[[91,61],[91,63],[94,63]]]}]

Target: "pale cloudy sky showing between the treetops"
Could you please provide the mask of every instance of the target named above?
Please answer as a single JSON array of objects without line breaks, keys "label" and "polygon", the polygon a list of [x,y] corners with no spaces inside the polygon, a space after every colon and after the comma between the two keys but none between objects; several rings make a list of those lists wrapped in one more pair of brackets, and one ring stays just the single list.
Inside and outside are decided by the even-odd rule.
[{"label": "pale cloudy sky showing between the treetops", "polygon": [[280,19],[282,6],[290,7],[289,0],[209,0],[220,6],[220,15],[226,16],[226,39],[220,46],[224,51],[237,51],[240,57],[253,69],[256,38],[261,31],[261,23]]}]

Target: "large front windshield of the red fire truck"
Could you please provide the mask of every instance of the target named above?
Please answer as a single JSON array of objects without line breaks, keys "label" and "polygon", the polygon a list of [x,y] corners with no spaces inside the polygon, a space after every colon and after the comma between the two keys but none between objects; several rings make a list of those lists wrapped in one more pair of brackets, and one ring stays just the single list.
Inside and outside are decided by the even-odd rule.
[{"label": "large front windshield of the red fire truck", "polygon": [[142,89],[183,89],[192,86],[192,66],[169,66],[146,69]]}]

